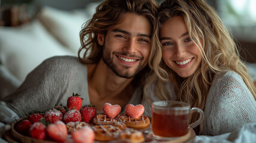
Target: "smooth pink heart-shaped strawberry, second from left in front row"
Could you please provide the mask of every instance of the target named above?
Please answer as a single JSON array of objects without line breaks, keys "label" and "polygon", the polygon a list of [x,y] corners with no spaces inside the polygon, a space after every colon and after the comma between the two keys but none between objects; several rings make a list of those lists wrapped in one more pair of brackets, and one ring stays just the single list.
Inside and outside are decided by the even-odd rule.
[{"label": "smooth pink heart-shaped strawberry, second from left in front row", "polygon": [[64,142],[67,139],[67,127],[62,121],[57,121],[47,126],[47,135],[57,142]]}]

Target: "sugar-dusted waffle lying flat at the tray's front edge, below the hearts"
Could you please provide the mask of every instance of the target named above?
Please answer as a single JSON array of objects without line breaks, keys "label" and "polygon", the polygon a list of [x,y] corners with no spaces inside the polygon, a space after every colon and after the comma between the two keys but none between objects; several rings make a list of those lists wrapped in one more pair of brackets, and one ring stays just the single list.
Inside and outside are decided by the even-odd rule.
[{"label": "sugar-dusted waffle lying flat at the tray's front edge, below the hearts", "polygon": [[112,141],[119,142],[143,142],[143,133],[131,128],[120,129],[113,125],[95,125],[92,126],[95,132],[95,140],[97,141]]}]

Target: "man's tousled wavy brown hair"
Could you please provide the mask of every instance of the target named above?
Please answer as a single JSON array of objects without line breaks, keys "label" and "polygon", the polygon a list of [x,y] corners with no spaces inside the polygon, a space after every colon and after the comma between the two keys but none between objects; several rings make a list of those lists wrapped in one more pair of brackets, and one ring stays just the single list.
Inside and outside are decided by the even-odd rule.
[{"label": "man's tousled wavy brown hair", "polygon": [[[100,61],[103,52],[103,46],[98,44],[98,34],[106,35],[107,30],[116,24],[121,23],[122,17],[126,13],[144,15],[151,25],[151,51],[149,55],[149,64],[159,55],[161,47],[158,42],[158,14],[159,5],[155,0],[106,0],[97,6],[95,14],[91,20],[84,23],[80,32],[81,48],[78,51],[79,60],[85,64],[95,64]],[[140,73],[149,71],[146,66]],[[138,74],[138,76],[143,76]]]}]

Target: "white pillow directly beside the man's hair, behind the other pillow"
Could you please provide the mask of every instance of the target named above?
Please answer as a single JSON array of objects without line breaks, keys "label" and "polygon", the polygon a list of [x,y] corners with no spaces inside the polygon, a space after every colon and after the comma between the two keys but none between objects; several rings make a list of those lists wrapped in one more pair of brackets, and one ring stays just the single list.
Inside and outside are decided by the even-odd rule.
[{"label": "white pillow directly beside the man's hair, behind the other pillow", "polygon": [[58,41],[78,53],[81,46],[79,32],[88,20],[85,10],[64,11],[45,6],[38,18]]}]

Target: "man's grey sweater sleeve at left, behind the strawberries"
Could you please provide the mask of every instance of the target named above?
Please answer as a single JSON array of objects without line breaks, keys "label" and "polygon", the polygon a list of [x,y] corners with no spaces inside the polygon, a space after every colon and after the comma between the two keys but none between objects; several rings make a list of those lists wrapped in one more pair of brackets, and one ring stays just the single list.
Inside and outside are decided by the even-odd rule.
[{"label": "man's grey sweater sleeve at left, behind the strawberries", "polygon": [[20,117],[26,116],[29,111],[53,108],[64,98],[70,75],[69,64],[58,57],[45,60],[4,101]]}]

